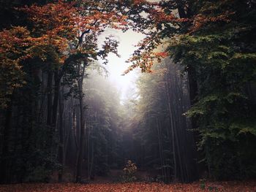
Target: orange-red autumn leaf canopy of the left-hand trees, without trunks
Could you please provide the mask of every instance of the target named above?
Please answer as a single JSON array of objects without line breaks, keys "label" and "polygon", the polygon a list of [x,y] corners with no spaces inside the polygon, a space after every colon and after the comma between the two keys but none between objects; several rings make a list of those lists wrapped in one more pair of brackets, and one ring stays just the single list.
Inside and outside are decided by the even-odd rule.
[{"label": "orange-red autumn leaf canopy of the left-hand trees, without trunks", "polygon": [[[113,27],[125,30],[126,17],[113,10],[99,12],[97,9],[81,9],[83,6],[97,7],[94,1],[85,4],[59,0],[44,6],[33,4],[30,7],[16,8],[27,15],[29,25],[12,27],[0,32],[1,60],[1,108],[7,107],[15,88],[23,83],[22,61],[39,59],[45,65],[53,63],[57,69],[71,55],[105,59],[110,52],[116,53],[117,42],[108,38],[104,50],[97,50],[97,37],[104,28]],[[86,44],[84,44],[86,42]]]}]

